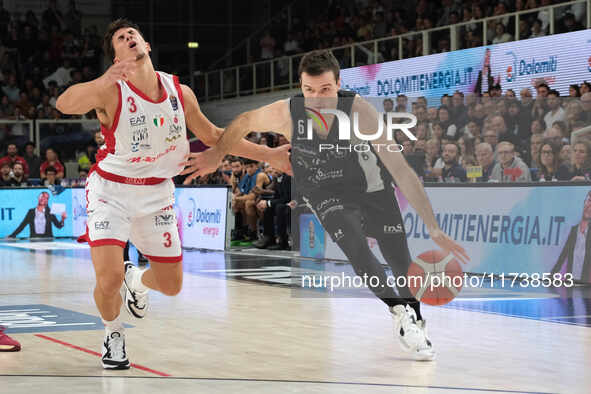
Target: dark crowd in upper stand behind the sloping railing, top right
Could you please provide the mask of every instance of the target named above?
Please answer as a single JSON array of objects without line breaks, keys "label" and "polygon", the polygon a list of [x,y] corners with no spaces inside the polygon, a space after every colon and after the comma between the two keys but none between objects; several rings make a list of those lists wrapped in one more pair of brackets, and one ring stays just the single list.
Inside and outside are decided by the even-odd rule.
[{"label": "dark crowd in upper stand behind the sloping railing, top right", "polygon": [[[388,36],[417,32],[436,27],[498,16],[487,22],[487,44],[497,44],[516,39],[513,17],[504,16],[516,11],[527,11],[564,3],[563,0],[333,0],[319,2],[318,10],[309,11],[311,16],[292,16],[287,23],[287,14],[263,32],[259,39],[262,60],[284,55],[294,55],[314,49],[326,49],[350,45]],[[328,3],[328,6],[327,6]],[[321,8],[322,7],[322,8]],[[554,32],[565,33],[582,30],[585,26],[585,3],[568,5],[554,13]],[[286,26],[291,26],[288,29]],[[520,16],[519,39],[541,37],[550,33],[550,12],[532,11]],[[483,27],[467,23],[456,31],[457,49],[483,45]],[[451,46],[449,33],[438,31],[430,38],[429,53],[448,52]],[[356,65],[398,60],[397,43],[384,42],[378,47],[378,58],[373,58],[373,46],[364,50],[356,47]],[[365,53],[364,53],[365,52]],[[403,41],[403,57],[423,55],[420,35]],[[342,67],[351,64],[350,51],[335,51]]]}]

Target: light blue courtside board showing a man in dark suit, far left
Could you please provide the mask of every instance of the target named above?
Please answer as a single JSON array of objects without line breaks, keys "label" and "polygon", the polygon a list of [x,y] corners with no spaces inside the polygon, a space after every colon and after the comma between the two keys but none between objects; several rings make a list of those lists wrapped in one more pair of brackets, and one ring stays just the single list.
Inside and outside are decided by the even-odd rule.
[{"label": "light blue courtside board showing a man in dark suit, far left", "polygon": [[71,189],[0,190],[0,238],[72,236]]}]

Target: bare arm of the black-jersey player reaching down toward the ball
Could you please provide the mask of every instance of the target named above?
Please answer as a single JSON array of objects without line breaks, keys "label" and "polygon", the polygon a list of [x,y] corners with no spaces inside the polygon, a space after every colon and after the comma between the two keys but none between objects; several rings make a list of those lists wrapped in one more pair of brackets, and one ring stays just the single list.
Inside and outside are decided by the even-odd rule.
[{"label": "bare arm of the black-jersey player reaching down toward the ball", "polygon": [[[370,103],[358,97],[358,99],[355,100],[354,110],[359,113],[360,131],[364,134],[375,134],[378,130],[378,122],[382,122],[382,117],[378,116],[376,109]],[[382,136],[372,141],[372,143],[385,146],[392,144],[393,141],[389,141],[386,133],[382,133]],[[376,151],[382,160],[382,163],[384,163],[384,166],[388,172],[390,172],[398,187],[400,187],[402,194],[404,194],[406,199],[425,222],[433,242],[435,242],[440,248],[453,253],[454,256],[463,263],[470,260],[464,248],[454,242],[439,228],[427,193],[425,193],[425,189],[423,188],[419,177],[417,177],[417,174],[406,162],[402,152],[389,152],[387,149],[378,149],[377,147]]]}]

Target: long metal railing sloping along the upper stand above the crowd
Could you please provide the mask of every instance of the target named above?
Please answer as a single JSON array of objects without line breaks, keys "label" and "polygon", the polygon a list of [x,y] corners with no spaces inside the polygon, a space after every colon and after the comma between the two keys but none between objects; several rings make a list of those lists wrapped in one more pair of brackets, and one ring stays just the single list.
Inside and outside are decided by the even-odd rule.
[{"label": "long metal railing sloping along the upper stand above the crowd", "polygon": [[[432,53],[431,38],[433,35],[439,38],[449,37],[449,50],[455,51],[459,48],[458,35],[469,25],[476,25],[476,31],[481,31],[482,45],[488,45],[487,24],[495,23],[498,20],[509,18],[515,23],[515,34],[512,41],[520,39],[519,21],[523,15],[536,14],[540,11],[548,12],[548,34],[552,35],[556,30],[555,19],[561,17],[560,9],[571,7],[575,4],[585,6],[585,28],[591,27],[591,0],[576,0],[556,4],[547,7],[538,7],[530,10],[518,11],[500,16],[491,16],[469,22],[457,23],[445,27],[436,27],[420,32],[409,32],[397,36],[383,37],[370,41],[356,42],[351,45],[330,48],[341,67],[355,67],[367,64],[374,64],[383,61],[400,60],[414,56],[426,56]],[[443,32],[443,33],[442,33]],[[405,41],[420,39],[422,50],[419,54],[405,53]],[[385,56],[383,52],[390,52]],[[395,54],[392,55],[392,54]],[[304,53],[274,58],[270,60],[234,66],[215,71],[205,72],[196,76],[192,88],[201,101],[224,100],[240,96],[256,95],[275,90],[294,89],[298,87],[297,68],[299,60]],[[192,72],[194,72],[192,70]]]}]

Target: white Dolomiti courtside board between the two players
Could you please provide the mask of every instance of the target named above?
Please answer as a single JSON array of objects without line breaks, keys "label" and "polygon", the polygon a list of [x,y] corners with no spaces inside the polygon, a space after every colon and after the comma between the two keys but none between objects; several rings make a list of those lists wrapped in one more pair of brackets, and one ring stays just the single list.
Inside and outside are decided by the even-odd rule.
[{"label": "white Dolomiti courtside board between the two players", "polygon": [[182,246],[224,250],[228,189],[177,188],[175,200]]}]

